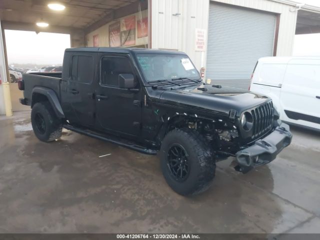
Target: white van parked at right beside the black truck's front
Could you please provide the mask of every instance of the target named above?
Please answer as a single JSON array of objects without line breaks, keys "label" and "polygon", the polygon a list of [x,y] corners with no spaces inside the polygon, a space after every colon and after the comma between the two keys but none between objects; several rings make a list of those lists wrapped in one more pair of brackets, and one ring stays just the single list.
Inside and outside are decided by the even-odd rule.
[{"label": "white van parked at right beside the black truck's front", "polygon": [[280,119],[320,130],[320,57],[263,57],[250,90],[272,98]]}]

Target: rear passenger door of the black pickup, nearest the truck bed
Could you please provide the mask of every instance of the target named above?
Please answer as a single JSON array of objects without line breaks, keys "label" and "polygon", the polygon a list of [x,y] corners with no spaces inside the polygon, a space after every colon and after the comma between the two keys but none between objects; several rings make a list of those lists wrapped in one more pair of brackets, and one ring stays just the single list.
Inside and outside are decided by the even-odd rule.
[{"label": "rear passenger door of the black pickup, nearest the truck bed", "polygon": [[63,93],[66,118],[72,123],[94,126],[96,55],[76,53],[70,57],[69,76]]}]

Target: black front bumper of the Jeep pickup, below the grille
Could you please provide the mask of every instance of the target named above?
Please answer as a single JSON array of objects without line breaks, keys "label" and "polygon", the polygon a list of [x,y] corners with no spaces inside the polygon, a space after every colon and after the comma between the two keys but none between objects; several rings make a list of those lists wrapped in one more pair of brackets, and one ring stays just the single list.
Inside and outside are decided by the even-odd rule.
[{"label": "black front bumper of the Jeep pickup, below the grille", "polygon": [[246,173],[253,167],[269,163],[291,143],[291,139],[289,126],[281,123],[266,137],[256,140],[253,145],[235,153],[238,163],[234,167],[235,170]]}]

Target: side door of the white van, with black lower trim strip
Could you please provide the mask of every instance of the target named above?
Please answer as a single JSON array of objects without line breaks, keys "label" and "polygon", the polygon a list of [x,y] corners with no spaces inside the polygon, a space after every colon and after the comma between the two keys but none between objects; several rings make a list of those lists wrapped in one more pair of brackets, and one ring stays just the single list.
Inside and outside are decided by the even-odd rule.
[{"label": "side door of the white van, with black lower trim strip", "polygon": [[281,88],[283,120],[320,128],[320,60],[292,59]]}]

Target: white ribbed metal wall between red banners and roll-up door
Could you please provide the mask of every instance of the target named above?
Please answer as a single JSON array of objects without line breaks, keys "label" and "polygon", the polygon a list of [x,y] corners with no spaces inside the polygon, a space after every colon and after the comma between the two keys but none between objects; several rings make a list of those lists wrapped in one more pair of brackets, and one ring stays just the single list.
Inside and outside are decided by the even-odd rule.
[{"label": "white ribbed metal wall between red banners and roll-up door", "polygon": [[184,51],[198,70],[204,67],[205,52],[195,51],[195,29],[207,34],[208,7],[208,0],[152,0],[152,48]]}]

